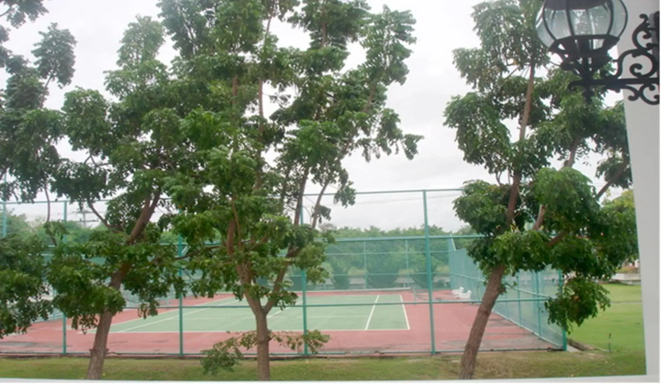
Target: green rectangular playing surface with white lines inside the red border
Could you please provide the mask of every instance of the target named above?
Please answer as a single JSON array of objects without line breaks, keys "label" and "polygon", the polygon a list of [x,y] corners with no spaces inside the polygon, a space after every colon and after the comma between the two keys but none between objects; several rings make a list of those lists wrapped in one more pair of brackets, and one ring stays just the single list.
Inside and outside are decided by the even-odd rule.
[{"label": "green rectangular playing surface with white lines inside the red border", "polygon": [[[306,305],[403,303],[399,294],[385,295],[323,295],[308,296]],[[299,299],[297,305],[301,305]],[[254,330],[254,315],[250,308],[227,308],[227,305],[247,305],[235,297],[227,297],[182,309],[184,332],[225,332]],[[303,330],[303,308],[274,308],[268,314],[268,327],[274,331]],[[308,307],[307,328],[318,330],[408,330],[404,305],[360,305],[350,307]],[[111,326],[110,332],[179,332],[178,309],[147,319],[136,319]]]}]

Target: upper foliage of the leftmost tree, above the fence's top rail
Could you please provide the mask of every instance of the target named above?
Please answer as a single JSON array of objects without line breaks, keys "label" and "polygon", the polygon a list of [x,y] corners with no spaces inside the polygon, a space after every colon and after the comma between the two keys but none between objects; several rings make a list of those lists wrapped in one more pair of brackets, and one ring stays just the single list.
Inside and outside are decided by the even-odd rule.
[{"label": "upper foliage of the leftmost tree, above the fence's top rail", "polygon": [[[8,9],[1,16],[15,28],[47,12],[42,0],[2,3]],[[34,63],[0,45],[0,67],[9,74],[0,103],[0,197],[5,201],[33,201],[38,192],[45,192],[48,198],[48,174],[59,161],[54,144],[61,137],[61,114],[44,108],[44,102],[50,83],[55,81],[59,87],[71,83],[76,41],[58,24],[39,33],[42,39],[32,50]],[[0,25],[0,44],[8,40],[8,29]]]}]

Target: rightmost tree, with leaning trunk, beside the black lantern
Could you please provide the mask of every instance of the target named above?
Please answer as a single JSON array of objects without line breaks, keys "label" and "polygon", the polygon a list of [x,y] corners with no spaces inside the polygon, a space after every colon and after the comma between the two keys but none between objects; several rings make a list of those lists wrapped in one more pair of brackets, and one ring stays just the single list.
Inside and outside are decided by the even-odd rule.
[{"label": "rightmost tree, with leaning trunk, beside the black lantern", "polygon": [[[486,277],[475,321],[461,358],[461,379],[470,379],[488,317],[500,294],[502,279],[518,271],[551,266],[568,276],[557,297],[545,303],[549,321],[571,330],[609,304],[596,284],[611,276],[629,256],[617,241],[631,230],[622,213],[605,210],[590,179],[572,166],[590,152],[610,153],[602,174],[607,185],[627,184],[623,118],[603,108],[603,93],[586,104],[566,90],[570,73],[549,69],[549,55],[535,33],[539,2],[494,0],[473,12],[479,48],[458,49],[455,65],[473,87],[446,107],[446,126],[457,130],[464,160],[483,165],[496,184],[473,180],[454,202],[457,216],[484,235],[469,245],[469,256]],[[537,73],[547,71],[545,77]],[[510,139],[507,120],[518,122],[518,139]],[[615,135],[616,140],[609,139]],[[564,160],[561,169],[551,159]],[[619,172],[611,172],[618,163]],[[507,176],[507,182],[502,180]]]}]

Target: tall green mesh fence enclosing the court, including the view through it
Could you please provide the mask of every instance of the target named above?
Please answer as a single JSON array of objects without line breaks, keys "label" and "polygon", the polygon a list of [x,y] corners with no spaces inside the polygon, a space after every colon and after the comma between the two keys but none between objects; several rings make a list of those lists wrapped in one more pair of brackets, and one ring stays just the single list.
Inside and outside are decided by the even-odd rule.
[{"label": "tall green mesh fence enclosing the court, including the view through it", "polygon": [[[441,226],[447,225],[444,220],[451,214],[447,202],[457,193],[403,191],[386,197],[359,194],[355,207],[346,211],[333,207],[331,224],[337,235],[327,247],[323,264],[329,277],[311,284],[304,270],[290,268],[286,279],[298,299],[292,307],[272,309],[269,328],[274,332],[320,330],[330,336],[320,350],[322,354],[463,350],[485,285],[465,249],[478,236],[449,235]],[[332,196],[324,199],[324,204],[333,204]],[[391,211],[375,210],[377,204],[387,204]],[[69,219],[80,215],[70,208]],[[34,206],[31,209],[35,211]],[[425,209],[434,214],[428,215]],[[11,215],[6,208],[3,210],[3,222],[11,222],[12,231],[30,231],[15,223],[15,217],[24,214],[21,211],[29,212],[30,205],[15,206]],[[54,219],[67,218],[65,204],[52,212]],[[389,221],[390,227],[383,224]],[[368,225],[373,222],[382,223],[382,227]],[[4,233],[8,227],[5,224]],[[69,241],[84,241],[84,235],[77,236]],[[167,242],[178,244],[178,239],[173,237]],[[186,245],[181,243],[179,249],[180,255],[185,254]],[[45,262],[48,257],[44,255]],[[200,274],[182,271],[182,276],[191,280]],[[481,349],[547,350],[566,346],[563,330],[549,325],[544,309],[544,301],[555,295],[561,284],[557,271],[522,273],[508,278],[508,283],[510,287],[496,302]],[[262,279],[258,284],[270,286],[272,282]],[[139,297],[124,290],[122,294],[127,308],[114,317],[108,341],[108,349],[116,354],[200,354],[215,342],[255,328],[246,301],[231,293],[180,298],[171,290],[160,298],[159,314],[146,318],[137,311]],[[26,334],[0,340],[0,353],[84,354],[91,348],[94,334],[94,330],[71,329],[71,320],[54,311],[48,321],[35,323]],[[274,343],[271,352],[286,355],[310,351],[292,351]]]}]

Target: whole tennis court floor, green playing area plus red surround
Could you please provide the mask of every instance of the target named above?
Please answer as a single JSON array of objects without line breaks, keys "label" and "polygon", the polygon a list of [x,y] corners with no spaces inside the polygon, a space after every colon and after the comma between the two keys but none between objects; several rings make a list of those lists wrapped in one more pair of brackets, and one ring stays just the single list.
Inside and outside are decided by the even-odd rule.
[{"label": "whole tennis court floor, green playing area plus red surround", "polygon": [[[268,327],[274,332],[320,330],[330,336],[320,354],[408,354],[461,352],[475,319],[476,303],[455,302],[449,290],[435,290],[434,302],[413,289],[356,289],[354,291],[308,291],[299,293],[296,305],[272,309]],[[521,303],[522,313],[533,302]],[[200,354],[215,343],[254,330],[255,320],[247,303],[231,293],[213,299],[188,297],[163,303],[159,315],[143,319],[137,309],[118,313],[108,337],[109,354]],[[508,304],[510,315],[518,303]],[[305,308],[305,309],[304,309]],[[516,318],[516,316],[513,316]],[[433,321],[433,323],[432,323]],[[87,354],[94,330],[71,328],[71,320],[36,323],[26,334],[0,340],[0,353]],[[482,350],[557,348],[531,330],[492,313]],[[272,354],[295,351],[272,342]],[[249,354],[253,350],[246,351]],[[300,353],[300,352],[299,352]]]}]

